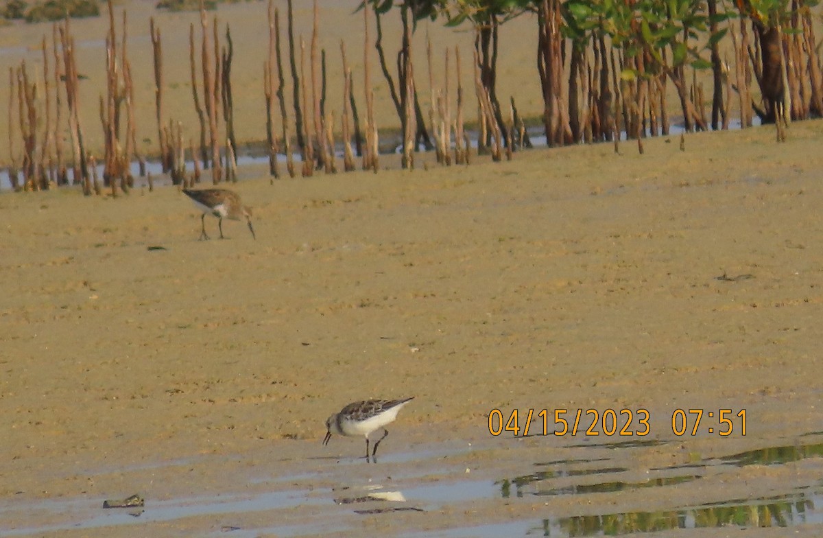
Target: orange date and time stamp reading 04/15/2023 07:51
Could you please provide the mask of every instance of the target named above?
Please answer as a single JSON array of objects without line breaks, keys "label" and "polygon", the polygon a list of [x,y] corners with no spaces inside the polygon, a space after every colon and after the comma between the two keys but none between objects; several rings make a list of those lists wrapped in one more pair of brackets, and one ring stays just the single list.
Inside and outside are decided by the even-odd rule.
[{"label": "orange date and time stamp reading 04/15/2023 07:51", "polygon": [[[498,436],[512,433],[514,437],[532,435],[649,435],[652,431],[648,409],[512,409],[506,419],[500,409],[489,412],[489,433]],[[521,421],[523,421],[521,423]],[[554,428],[550,429],[549,424]],[[746,409],[675,409],[669,421],[672,433],[695,436],[698,433],[728,437],[732,433],[746,435]]]}]

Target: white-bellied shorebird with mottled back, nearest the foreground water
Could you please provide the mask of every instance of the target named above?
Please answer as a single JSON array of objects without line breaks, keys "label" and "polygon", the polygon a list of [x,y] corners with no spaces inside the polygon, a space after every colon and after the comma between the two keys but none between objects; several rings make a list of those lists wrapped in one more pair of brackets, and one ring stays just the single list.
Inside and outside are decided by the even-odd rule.
[{"label": "white-bellied shorebird with mottled back, nearest the foreground water", "polygon": [[[323,439],[323,446],[328,445],[332,433],[347,436],[362,435],[365,436],[365,459],[368,460],[369,434],[397,419],[400,408],[413,398],[414,396],[401,400],[365,400],[346,405],[340,413],[332,414],[326,420],[326,437]],[[377,446],[387,435],[388,430],[383,428],[383,437],[374,443],[372,456],[377,454]]]}]

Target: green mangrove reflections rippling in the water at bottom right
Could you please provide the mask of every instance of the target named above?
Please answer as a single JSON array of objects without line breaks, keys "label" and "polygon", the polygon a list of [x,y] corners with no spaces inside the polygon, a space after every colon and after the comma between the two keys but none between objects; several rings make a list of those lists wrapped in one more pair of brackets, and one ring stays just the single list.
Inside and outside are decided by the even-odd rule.
[{"label": "green mangrove reflections rippling in the water at bottom right", "polygon": [[[808,437],[808,436],[806,436]],[[807,444],[787,444],[738,452],[728,456],[711,457],[648,470],[648,480],[637,480],[637,475],[624,467],[600,464],[586,468],[592,461],[569,460],[537,463],[544,470],[497,482],[502,498],[529,498],[532,496],[582,495],[613,493],[617,491],[676,486],[705,475],[737,472],[745,465],[784,465],[806,458],[823,457],[823,443],[817,439]],[[625,447],[625,445],[624,445]],[[597,461],[604,461],[598,459]],[[607,460],[606,460],[607,461]],[[576,468],[575,468],[576,466]],[[551,469],[546,469],[551,467]],[[686,471],[687,470],[687,471]],[[578,477],[575,479],[575,477]],[[529,535],[543,536],[617,536],[637,532],[667,531],[670,529],[698,529],[705,527],[781,527],[802,523],[823,523],[823,488],[792,489],[774,497],[733,499],[723,503],[709,503],[697,507],[678,507],[656,512],[633,511],[556,517],[542,520],[542,525],[529,526]]]}]

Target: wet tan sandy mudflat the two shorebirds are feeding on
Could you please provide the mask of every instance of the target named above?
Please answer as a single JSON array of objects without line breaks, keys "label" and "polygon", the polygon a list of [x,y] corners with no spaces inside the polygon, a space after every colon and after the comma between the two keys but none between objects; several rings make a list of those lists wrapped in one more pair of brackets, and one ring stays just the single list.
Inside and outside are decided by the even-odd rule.
[{"label": "wet tan sandy mudflat the two shorebirds are feeding on", "polygon": [[[604,461],[590,466],[634,484],[821,442],[802,437],[823,430],[821,133],[805,122],[783,144],[750,129],[689,136],[685,152],[658,138],[642,156],[570,147],[274,185],[249,170],[235,189],[257,241],[229,221],[228,240],[197,241],[199,213],[172,187],[2,194],[0,530],[431,536],[495,523],[522,536],[544,518],[819,488],[810,456],[706,464],[664,494],[501,494],[546,461]],[[321,446],[342,405],[403,395],[416,400],[377,465],[356,460],[361,439]],[[491,409],[529,408],[649,409],[650,433],[490,435]],[[746,409],[746,437],[737,417],[730,437],[707,417],[697,437],[672,433],[674,409],[721,408]],[[597,447],[626,440],[639,446]],[[417,492],[425,512],[332,502],[357,484]],[[141,517],[100,513],[133,493]],[[169,508],[232,495],[258,504]],[[277,510],[289,503],[300,508]]]}]

